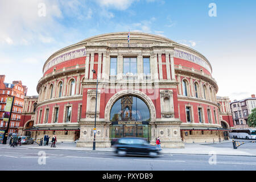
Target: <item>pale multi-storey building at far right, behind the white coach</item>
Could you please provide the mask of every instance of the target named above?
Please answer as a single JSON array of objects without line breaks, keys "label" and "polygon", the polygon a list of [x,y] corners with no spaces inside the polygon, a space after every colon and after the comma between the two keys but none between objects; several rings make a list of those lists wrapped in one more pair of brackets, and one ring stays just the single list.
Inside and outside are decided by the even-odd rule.
[{"label": "pale multi-storey building at far right, behind the white coach", "polygon": [[248,127],[248,116],[251,114],[251,110],[256,107],[255,94],[252,94],[250,98],[243,100],[234,100],[230,103],[230,107],[233,114],[234,128],[242,129]]}]

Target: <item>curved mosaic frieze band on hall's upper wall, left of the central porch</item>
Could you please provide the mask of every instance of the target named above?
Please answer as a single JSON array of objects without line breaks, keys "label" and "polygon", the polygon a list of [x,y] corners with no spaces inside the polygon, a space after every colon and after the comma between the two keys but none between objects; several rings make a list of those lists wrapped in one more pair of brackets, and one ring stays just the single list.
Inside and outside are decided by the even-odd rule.
[{"label": "curved mosaic frieze band on hall's upper wall, left of the central porch", "polygon": [[79,58],[79,57],[84,57],[86,56],[86,49],[77,49],[69,52],[65,52],[60,56],[54,57],[48,63],[46,64],[46,67],[44,67],[44,73],[51,67],[53,67],[56,64],[62,63],[64,61],[68,61],[71,59]]}]

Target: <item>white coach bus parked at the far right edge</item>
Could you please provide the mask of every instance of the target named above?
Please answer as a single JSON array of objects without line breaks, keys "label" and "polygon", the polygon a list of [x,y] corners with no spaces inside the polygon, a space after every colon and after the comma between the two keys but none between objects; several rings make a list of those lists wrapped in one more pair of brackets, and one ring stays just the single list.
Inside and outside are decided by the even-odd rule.
[{"label": "white coach bus parked at the far right edge", "polygon": [[256,129],[234,129],[229,131],[230,138],[256,139]]}]

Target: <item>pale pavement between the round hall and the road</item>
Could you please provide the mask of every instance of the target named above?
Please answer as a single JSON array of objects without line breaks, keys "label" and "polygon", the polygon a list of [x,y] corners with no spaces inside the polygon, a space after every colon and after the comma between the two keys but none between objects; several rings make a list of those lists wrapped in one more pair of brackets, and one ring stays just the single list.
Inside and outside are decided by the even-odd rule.
[{"label": "pale pavement between the round hall and the road", "polygon": [[[225,143],[232,142],[232,140],[226,141]],[[222,142],[224,143],[224,142]],[[218,144],[218,143],[216,143]],[[9,144],[3,145],[0,144],[1,148],[10,148]],[[76,147],[76,143],[57,143],[56,148],[51,148],[49,146],[39,146],[38,144],[28,144],[18,146],[17,148],[30,148],[30,149],[42,149],[42,150],[73,150],[73,151],[100,151],[100,152],[113,152],[114,148],[97,148],[93,151],[92,148]],[[162,154],[193,154],[193,155],[237,155],[237,156],[256,156],[256,148],[237,148],[233,149],[232,143],[230,147],[214,147],[214,144],[207,143],[187,143],[185,148],[163,148],[161,151]]]}]

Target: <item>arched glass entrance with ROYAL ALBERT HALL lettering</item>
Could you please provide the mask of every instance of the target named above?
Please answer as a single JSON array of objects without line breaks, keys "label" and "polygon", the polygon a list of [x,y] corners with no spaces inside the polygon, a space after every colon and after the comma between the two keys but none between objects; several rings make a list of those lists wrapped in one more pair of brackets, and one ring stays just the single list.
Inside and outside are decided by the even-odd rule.
[{"label": "arched glass entrance with ROYAL ALBERT HALL lettering", "polygon": [[125,95],[110,110],[110,139],[141,137],[150,140],[150,109],[138,96]]}]

